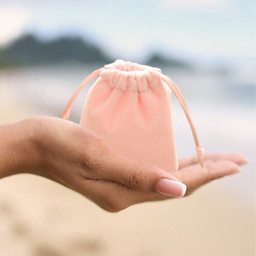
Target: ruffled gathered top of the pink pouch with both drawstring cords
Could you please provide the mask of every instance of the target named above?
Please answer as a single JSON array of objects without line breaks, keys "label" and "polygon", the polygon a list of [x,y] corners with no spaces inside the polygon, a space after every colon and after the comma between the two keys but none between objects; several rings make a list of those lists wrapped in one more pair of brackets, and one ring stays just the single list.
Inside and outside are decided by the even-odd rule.
[{"label": "ruffled gathered top of the pink pouch with both drawstring cords", "polygon": [[143,92],[148,90],[148,88],[156,87],[161,82],[166,83],[169,89],[174,93],[186,115],[194,136],[198,162],[202,167],[204,166],[202,157],[204,152],[203,146],[199,144],[196,129],[193,121],[191,120],[185,100],[176,84],[169,77],[163,75],[161,70],[158,68],[139,65],[138,63],[132,63],[130,61],[116,60],[114,63],[105,65],[104,68],[95,70],[86,79],[84,79],[80,86],[76,89],[66,105],[66,108],[63,110],[61,118],[69,118],[73,103],[78,94],[87,85],[87,83],[98,76],[100,76],[102,79],[108,80],[112,88],[122,91],[130,90]]}]

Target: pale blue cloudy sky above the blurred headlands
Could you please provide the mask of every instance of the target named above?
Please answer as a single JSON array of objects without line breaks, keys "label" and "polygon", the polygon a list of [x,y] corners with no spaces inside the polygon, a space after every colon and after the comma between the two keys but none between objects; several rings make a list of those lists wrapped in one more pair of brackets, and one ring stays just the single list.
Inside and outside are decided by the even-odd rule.
[{"label": "pale blue cloudy sky above the blurred headlands", "polygon": [[0,47],[25,33],[81,35],[106,53],[255,57],[252,0],[1,0]]}]

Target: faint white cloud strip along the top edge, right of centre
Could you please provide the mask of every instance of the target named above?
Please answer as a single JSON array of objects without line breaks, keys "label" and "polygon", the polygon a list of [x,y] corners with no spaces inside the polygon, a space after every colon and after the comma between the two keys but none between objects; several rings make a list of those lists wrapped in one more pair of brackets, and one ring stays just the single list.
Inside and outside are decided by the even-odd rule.
[{"label": "faint white cloud strip along the top edge, right of centre", "polygon": [[222,9],[227,4],[228,0],[159,0],[161,8],[180,9],[180,10],[195,10],[208,9],[216,10]]}]

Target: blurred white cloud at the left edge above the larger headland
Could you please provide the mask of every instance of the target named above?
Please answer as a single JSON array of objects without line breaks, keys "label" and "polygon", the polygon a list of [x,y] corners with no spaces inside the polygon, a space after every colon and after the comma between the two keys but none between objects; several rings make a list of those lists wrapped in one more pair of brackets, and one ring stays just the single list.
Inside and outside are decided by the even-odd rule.
[{"label": "blurred white cloud at the left edge above the larger headland", "polygon": [[0,9],[0,45],[22,34],[29,23],[29,15],[22,8]]}]

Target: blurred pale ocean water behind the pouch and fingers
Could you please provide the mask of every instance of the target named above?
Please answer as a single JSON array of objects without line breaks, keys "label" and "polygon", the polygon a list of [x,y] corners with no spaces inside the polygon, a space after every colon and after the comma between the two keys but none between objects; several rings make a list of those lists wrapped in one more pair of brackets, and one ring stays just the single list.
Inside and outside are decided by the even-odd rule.
[{"label": "blurred pale ocean water behind the pouch and fingers", "polygon": [[[0,70],[0,93],[38,114],[59,117],[82,80],[100,66],[59,65]],[[255,61],[229,66],[203,64],[195,70],[158,67],[180,88],[205,152],[239,152],[249,159],[240,174],[209,184],[255,207]],[[70,120],[79,122],[88,84]],[[195,155],[186,117],[173,96],[173,122],[179,157]]]}]

